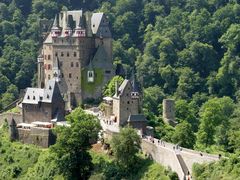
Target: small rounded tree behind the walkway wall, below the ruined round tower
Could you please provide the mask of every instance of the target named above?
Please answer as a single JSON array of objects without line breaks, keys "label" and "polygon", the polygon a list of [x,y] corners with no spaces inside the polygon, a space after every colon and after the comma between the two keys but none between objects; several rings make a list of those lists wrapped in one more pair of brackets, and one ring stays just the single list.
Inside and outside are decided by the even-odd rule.
[{"label": "small rounded tree behind the walkway wall, below the ruined round tower", "polygon": [[172,136],[172,141],[185,148],[193,148],[195,144],[195,135],[192,126],[186,121],[179,123]]}]

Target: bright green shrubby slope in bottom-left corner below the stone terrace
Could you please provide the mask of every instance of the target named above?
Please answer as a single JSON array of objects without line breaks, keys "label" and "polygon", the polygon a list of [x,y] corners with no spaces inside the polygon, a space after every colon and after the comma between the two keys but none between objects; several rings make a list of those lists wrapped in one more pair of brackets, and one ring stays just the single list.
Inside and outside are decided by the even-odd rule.
[{"label": "bright green shrubby slope in bottom-left corner below the stone terrace", "polygon": [[20,179],[38,161],[41,150],[33,145],[11,143],[6,128],[0,128],[0,179]]}]

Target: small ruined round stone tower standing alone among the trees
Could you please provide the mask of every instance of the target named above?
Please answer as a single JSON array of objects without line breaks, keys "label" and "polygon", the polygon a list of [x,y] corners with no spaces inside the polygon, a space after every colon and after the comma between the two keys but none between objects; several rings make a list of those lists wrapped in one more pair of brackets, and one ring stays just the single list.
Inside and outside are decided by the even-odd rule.
[{"label": "small ruined round stone tower standing alone among the trees", "polygon": [[163,121],[172,126],[176,125],[175,102],[172,99],[163,100]]}]

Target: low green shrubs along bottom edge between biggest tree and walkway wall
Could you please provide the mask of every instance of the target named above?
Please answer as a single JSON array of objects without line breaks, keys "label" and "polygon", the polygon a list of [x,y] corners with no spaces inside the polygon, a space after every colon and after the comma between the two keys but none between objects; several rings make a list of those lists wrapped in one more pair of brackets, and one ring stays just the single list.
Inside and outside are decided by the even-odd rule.
[{"label": "low green shrubs along bottom edge between biggest tree and walkway wall", "polygon": [[165,169],[161,165],[154,163],[152,160],[139,156],[136,169],[133,171],[123,171],[114,163],[114,159],[99,152],[90,151],[94,164],[94,173],[90,176],[90,180],[98,179],[178,179],[176,174],[171,170]]}]

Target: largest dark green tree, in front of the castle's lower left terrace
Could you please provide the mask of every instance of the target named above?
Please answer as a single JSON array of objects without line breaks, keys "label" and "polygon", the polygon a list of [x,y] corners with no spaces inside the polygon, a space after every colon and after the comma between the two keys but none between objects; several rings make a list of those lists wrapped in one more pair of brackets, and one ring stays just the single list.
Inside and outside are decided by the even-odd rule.
[{"label": "largest dark green tree, in front of the castle's lower left terrace", "polygon": [[92,170],[90,142],[96,141],[100,124],[96,117],[80,108],[66,116],[71,127],[58,127],[57,142],[51,147],[59,172],[67,179],[86,179]]}]

